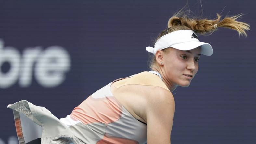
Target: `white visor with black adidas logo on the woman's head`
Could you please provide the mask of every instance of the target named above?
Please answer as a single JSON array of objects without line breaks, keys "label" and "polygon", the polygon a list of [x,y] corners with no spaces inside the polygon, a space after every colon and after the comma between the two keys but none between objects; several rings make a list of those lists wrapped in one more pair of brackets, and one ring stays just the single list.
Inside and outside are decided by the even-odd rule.
[{"label": "white visor with black adidas logo on the woman's head", "polygon": [[157,50],[173,47],[178,50],[192,50],[201,47],[201,54],[211,56],[213,49],[209,43],[200,42],[193,30],[178,30],[160,37],[155,47],[146,47],[150,53],[156,54]]}]

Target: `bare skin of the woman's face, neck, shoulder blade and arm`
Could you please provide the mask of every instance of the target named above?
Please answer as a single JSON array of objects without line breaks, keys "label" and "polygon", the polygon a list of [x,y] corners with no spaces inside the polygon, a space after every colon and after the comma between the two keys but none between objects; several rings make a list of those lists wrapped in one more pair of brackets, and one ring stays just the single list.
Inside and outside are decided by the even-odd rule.
[{"label": "bare skin of the woman's face, neck, shoulder blade and arm", "polygon": [[[168,48],[158,50],[155,54],[156,63],[152,70],[158,71],[163,82],[173,92],[177,86],[188,87],[198,71],[197,59],[200,58],[200,47],[186,51]],[[162,64],[161,64],[162,63]],[[156,76],[158,77],[158,76]],[[125,85],[116,88],[111,85],[114,97],[134,116],[147,123],[148,144],[170,144],[175,102],[172,93],[157,86]]]}]

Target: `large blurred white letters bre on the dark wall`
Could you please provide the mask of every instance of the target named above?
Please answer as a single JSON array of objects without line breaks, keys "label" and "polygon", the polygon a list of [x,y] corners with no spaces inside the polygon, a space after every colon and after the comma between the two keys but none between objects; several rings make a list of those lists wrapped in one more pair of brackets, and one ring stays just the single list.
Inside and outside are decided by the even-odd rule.
[{"label": "large blurred white letters bre on the dark wall", "polygon": [[[1,66],[10,64],[10,69],[3,73]],[[29,87],[34,72],[35,80],[43,87],[52,88],[60,85],[70,70],[70,55],[61,46],[26,48],[22,55],[14,47],[4,47],[0,39],[0,88],[6,89],[19,80],[21,87]]]}]

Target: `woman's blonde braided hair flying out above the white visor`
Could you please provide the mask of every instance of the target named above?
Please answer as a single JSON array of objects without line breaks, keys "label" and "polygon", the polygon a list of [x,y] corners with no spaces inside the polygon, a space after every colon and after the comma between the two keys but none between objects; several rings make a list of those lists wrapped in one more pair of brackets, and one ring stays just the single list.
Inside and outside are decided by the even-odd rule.
[{"label": "woman's blonde braided hair flying out above the white visor", "polygon": [[[196,18],[196,17],[189,17],[189,13],[185,14],[187,11],[183,11],[183,8],[175,13],[167,23],[167,29],[163,30],[159,36],[157,37],[156,41],[173,31],[177,30],[193,30],[196,33],[199,33],[201,35],[211,35],[214,31],[217,29],[214,28],[214,25],[216,24],[217,27],[223,27],[223,28],[229,28],[232,30],[236,30],[240,35],[243,35],[247,37],[247,34],[245,30],[250,30],[250,25],[244,22],[237,21],[238,18],[243,16],[243,14],[238,14],[235,16],[226,16],[221,20],[221,15],[217,13],[217,18],[215,19],[202,19],[202,18]],[[189,10],[190,12],[190,10]],[[166,49],[163,49],[165,52]],[[152,67],[156,63],[156,57],[155,55],[149,56],[150,58],[150,64],[149,68],[152,70]]]}]

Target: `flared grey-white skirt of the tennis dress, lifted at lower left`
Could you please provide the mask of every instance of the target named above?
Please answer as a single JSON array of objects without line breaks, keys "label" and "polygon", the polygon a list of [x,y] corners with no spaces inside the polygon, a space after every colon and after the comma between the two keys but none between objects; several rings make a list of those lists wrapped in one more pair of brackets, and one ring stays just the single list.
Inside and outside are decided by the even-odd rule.
[{"label": "flared grey-white skirt of the tennis dress, lifted at lower left", "polygon": [[8,108],[13,110],[19,144],[38,138],[41,144],[85,144],[45,107],[22,100]]}]

